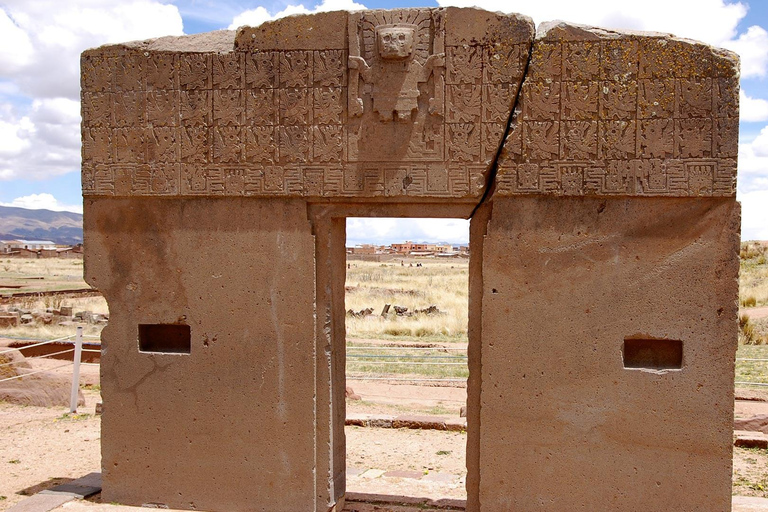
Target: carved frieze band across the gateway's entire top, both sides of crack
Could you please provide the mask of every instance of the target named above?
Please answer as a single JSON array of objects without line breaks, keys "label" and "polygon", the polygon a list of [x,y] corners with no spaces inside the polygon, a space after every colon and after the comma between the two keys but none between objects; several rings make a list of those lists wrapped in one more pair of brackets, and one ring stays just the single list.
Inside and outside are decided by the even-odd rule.
[{"label": "carved frieze band across the gateway's entire top, both sides of crack", "polygon": [[733,54],[479,12],[89,50],[84,194],[477,199],[495,166],[502,195],[734,195]]}]

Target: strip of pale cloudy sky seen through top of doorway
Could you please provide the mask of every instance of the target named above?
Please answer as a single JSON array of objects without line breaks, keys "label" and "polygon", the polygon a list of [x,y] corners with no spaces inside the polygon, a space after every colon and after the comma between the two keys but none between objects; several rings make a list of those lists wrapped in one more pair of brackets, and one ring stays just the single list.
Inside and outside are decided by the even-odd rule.
[{"label": "strip of pale cloudy sky seen through top of doorway", "polygon": [[424,218],[356,217],[347,219],[347,245],[390,244],[405,240],[466,244],[469,240],[469,221]]}]

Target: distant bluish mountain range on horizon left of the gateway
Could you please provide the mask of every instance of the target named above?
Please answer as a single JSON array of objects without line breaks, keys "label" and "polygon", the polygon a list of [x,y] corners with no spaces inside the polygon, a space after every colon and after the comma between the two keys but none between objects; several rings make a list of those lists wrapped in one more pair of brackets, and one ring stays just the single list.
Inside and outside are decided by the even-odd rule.
[{"label": "distant bluish mountain range on horizon left of the gateway", "polygon": [[83,242],[83,216],[73,212],[0,206],[0,240],[17,238],[79,244]]}]

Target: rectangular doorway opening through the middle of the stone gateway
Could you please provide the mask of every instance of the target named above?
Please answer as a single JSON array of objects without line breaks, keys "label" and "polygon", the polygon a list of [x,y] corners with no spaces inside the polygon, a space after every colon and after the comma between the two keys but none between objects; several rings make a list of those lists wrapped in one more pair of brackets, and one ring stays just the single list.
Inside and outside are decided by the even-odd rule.
[{"label": "rectangular doorway opening through the middle of the stone gateway", "polygon": [[469,221],[346,219],[346,490],[465,500]]}]

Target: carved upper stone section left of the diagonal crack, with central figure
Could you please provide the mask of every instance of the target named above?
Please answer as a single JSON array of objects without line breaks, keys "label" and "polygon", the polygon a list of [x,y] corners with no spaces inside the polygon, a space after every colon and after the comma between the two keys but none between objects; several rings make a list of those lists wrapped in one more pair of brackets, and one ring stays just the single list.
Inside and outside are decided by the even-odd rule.
[{"label": "carved upper stone section left of the diagonal crack, with central figure", "polygon": [[[393,34],[410,38],[402,55],[385,54]],[[533,23],[402,9],[231,35],[83,54],[86,196],[479,199]]]}]

